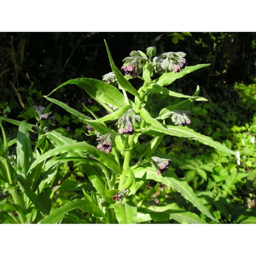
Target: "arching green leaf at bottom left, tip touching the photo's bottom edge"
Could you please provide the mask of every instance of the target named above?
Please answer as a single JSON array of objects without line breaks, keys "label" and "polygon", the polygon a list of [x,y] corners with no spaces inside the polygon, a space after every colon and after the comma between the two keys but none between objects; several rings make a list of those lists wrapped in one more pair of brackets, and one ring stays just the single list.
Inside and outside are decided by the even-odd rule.
[{"label": "arching green leaf at bottom left, tip touching the photo's bottom edge", "polygon": [[38,224],[56,224],[64,218],[66,213],[74,209],[81,209],[83,212],[94,214],[95,217],[105,217],[104,213],[96,204],[91,203],[84,197],[83,199],[70,201],[59,209],[54,210],[51,214],[41,219]]}]

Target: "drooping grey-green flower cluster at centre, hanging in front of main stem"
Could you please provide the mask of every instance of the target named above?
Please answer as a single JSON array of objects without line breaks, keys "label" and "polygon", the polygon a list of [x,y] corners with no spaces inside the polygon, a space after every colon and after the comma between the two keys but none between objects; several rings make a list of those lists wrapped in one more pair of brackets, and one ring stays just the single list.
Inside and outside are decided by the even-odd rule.
[{"label": "drooping grey-green flower cluster at centre, hanging in front of main stem", "polygon": [[[130,116],[132,115],[132,117]],[[129,109],[124,113],[123,117],[119,118],[116,125],[119,128],[118,133],[133,135],[134,127],[133,125],[137,125],[137,121],[144,121],[139,115],[135,115],[133,109]]]}]

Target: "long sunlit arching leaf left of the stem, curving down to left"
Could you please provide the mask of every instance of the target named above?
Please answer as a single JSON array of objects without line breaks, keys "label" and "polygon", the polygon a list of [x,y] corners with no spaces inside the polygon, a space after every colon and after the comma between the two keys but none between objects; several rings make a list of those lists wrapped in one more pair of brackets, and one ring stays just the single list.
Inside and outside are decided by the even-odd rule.
[{"label": "long sunlit arching leaf left of the stem, curving down to left", "polygon": [[30,166],[29,171],[32,170],[32,168],[34,168],[37,164],[41,163],[42,161],[54,155],[64,154],[67,152],[83,152],[83,151],[88,152],[96,160],[100,161],[103,165],[106,165],[109,169],[117,172],[118,174],[122,173],[120,166],[117,164],[116,160],[112,155],[110,155],[109,153],[103,152],[86,142],[78,142],[76,144],[66,144],[58,148],[47,151],[46,153],[38,157],[37,160],[33,162],[33,164]]}]

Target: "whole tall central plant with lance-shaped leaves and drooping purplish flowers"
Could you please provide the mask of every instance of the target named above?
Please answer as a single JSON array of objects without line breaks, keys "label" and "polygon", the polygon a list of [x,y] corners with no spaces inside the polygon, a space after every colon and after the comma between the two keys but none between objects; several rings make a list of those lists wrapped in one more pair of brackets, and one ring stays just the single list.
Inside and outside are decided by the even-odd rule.
[{"label": "whole tall central plant with lance-shaped leaves and drooping purplish flowers", "polygon": [[[48,158],[64,154],[65,157],[63,155],[55,157],[54,163],[64,161],[66,158],[74,161],[83,168],[94,191],[84,186],[85,197],[70,201],[51,213],[45,210],[45,217],[39,223],[58,223],[65,218],[66,213],[76,208],[93,216],[97,219],[96,223],[132,224],[169,219],[175,219],[180,223],[206,223],[197,214],[179,208],[176,203],[161,204],[160,200],[154,196],[159,184],[175,188],[199,211],[217,221],[188,183],[171,171],[171,163],[177,160],[168,155],[159,157],[157,154],[157,147],[164,136],[194,139],[226,153],[236,154],[225,145],[189,128],[193,123],[189,117],[191,112],[186,109],[193,101],[207,101],[199,96],[199,86],[195,88],[193,96],[170,91],[164,87],[210,64],[187,66],[186,53],[168,52],[155,56],[156,48],[149,47],[146,53],[132,51],[130,57],[123,60],[123,66],[117,68],[106,41],[105,44],[112,68],[112,71],[109,70],[110,73],[103,76],[105,82],[89,78],[73,79],[45,96],[49,101],[75,115],[80,122],[85,123],[88,136],[95,136],[98,146],[86,142],[77,143],[58,132],[48,132],[45,136],[54,141],[55,148],[47,148],[41,156],[27,166],[23,173],[26,176],[38,166],[43,165]],[[153,75],[159,75],[159,77],[152,80]],[[132,85],[133,79],[144,81],[138,91]],[[89,97],[101,104],[109,114],[98,118],[91,112],[93,118],[87,117],[50,97],[53,92],[66,85],[75,85],[85,90]],[[185,98],[185,100],[176,105],[165,106],[159,116],[154,118],[146,107],[150,94],[154,94],[155,97],[165,94]],[[169,119],[169,122],[172,120],[174,125],[165,125],[165,119]],[[109,121],[114,121],[112,126],[107,125]],[[152,139],[143,147],[139,141],[144,134],[150,135]],[[18,180],[22,183],[23,176]],[[147,184],[146,180],[154,180],[157,185],[147,192],[144,191],[144,198],[138,203],[136,199],[138,190],[144,183]],[[26,186],[24,188],[26,189]],[[30,198],[32,195],[28,193],[27,197]]]}]

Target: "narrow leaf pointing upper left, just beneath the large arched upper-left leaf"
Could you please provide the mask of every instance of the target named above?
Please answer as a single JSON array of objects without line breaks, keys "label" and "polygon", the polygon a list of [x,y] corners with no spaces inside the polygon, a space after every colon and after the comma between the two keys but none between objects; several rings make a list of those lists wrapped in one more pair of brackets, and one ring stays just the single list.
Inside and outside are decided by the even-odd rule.
[{"label": "narrow leaf pointing upper left, just beneath the large arched upper-left leaf", "polygon": [[[57,101],[55,99],[52,99],[52,98],[49,98],[47,96],[44,96],[46,99],[48,99],[48,101],[52,101],[53,103],[59,105],[60,107],[63,107],[66,111],[68,111],[69,113],[75,115],[76,117],[78,117],[82,123],[86,123],[86,124],[90,124],[90,126],[92,128],[94,128],[98,133],[101,133],[102,135],[103,134],[106,134],[106,133],[112,133],[114,135],[117,134],[116,131],[110,129],[110,128],[107,128],[106,125],[102,124],[102,123],[93,123],[91,122],[91,118],[90,117],[87,117],[85,115],[83,115],[82,113],[78,112],[77,110],[69,107],[67,104],[61,102],[61,101]],[[85,120],[90,120],[90,121],[85,121]]]}]

